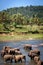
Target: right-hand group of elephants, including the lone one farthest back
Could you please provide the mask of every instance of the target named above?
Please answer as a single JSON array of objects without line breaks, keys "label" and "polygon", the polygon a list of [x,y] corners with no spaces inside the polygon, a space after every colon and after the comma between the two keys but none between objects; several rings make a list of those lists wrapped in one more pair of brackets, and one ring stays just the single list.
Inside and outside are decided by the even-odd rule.
[{"label": "right-hand group of elephants, including the lone one farthest back", "polygon": [[[39,44],[39,45],[25,44],[24,49],[30,50],[28,52],[28,56],[31,58],[31,60],[33,60],[36,63],[36,65],[43,65],[43,61],[40,60],[40,50],[37,49],[38,46],[43,47],[43,44]],[[32,47],[36,47],[36,49],[32,50]]]}]

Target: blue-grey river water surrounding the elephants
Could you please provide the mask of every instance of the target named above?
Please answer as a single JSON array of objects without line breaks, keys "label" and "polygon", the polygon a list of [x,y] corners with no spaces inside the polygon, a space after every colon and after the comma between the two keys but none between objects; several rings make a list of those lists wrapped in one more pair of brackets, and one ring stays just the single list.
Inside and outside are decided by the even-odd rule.
[{"label": "blue-grey river water surrounding the elephants", "polygon": [[[2,50],[3,46],[10,46],[13,48],[20,48],[20,51],[22,52],[22,54],[24,54],[26,56],[26,62],[22,62],[22,63],[5,63],[3,58],[0,56],[0,65],[36,65],[34,63],[33,60],[31,60],[28,57],[28,51],[23,49],[23,45],[24,44],[41,44],[43,43],[43,40],[28,40],[28,41],[18,41],[18,42],[0,42],[0,51]],[[40,59],[43,60],[43,47],[33,47],[34,48],[38,48],[41,52],[40,55]]]}]

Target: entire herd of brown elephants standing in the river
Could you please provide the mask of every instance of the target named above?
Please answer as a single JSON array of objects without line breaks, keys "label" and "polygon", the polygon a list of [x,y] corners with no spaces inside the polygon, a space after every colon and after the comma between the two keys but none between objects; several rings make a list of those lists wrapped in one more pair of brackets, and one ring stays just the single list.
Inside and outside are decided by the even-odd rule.
[{"label": "entire herd of brown elephants standing in the river", "polygon": [[[40,60],[40,50],[39,49],[32,49],[34,45],[25,44],[23,48],[25,50],[29,50],[28,56],[31,60],[33,60],[37,65],[43,65],[43,61]],[[43,46],[43,44],[36,45],[36,46]],[[19,48],[12,48],[9,46],[4,46],[1,50],[1,57],[3,57],[4,61],[10,62],[22,62],[23,60],[26,62],[26,56],[23,55]]]}]

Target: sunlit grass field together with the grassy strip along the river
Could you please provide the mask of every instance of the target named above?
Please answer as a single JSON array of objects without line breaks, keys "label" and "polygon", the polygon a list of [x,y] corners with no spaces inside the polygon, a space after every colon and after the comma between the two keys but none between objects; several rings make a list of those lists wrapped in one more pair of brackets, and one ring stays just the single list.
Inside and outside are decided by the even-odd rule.
[{"label": "sunlit grass field together with the grassy strip along the river", "polygon": [[[23,25],[21,27],[22,28],[18,26],[15,28],[13,34],[0,34],[0,41],[43,39],[43,26]],[[34,32],[35,34],[32,34]],[[39,34],[37,32],[39,32]]]}]

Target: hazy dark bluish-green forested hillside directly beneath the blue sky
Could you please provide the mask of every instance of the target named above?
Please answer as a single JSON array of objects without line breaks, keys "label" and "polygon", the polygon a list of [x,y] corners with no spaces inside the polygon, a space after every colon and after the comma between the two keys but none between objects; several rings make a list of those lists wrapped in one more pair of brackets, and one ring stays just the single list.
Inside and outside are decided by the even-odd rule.
[{"label": "hazy dark bluish-green forested hillside directly beneath the blue sky", "polygon": [[17,14],[21,13],[27,17],[31,17],[33,15],[37,15],[38,17],[43,17],[43,6],[26,6],[26,7],[14,7],[9,8],[7,10],[3,10],[8,12],[8,14]]}]

